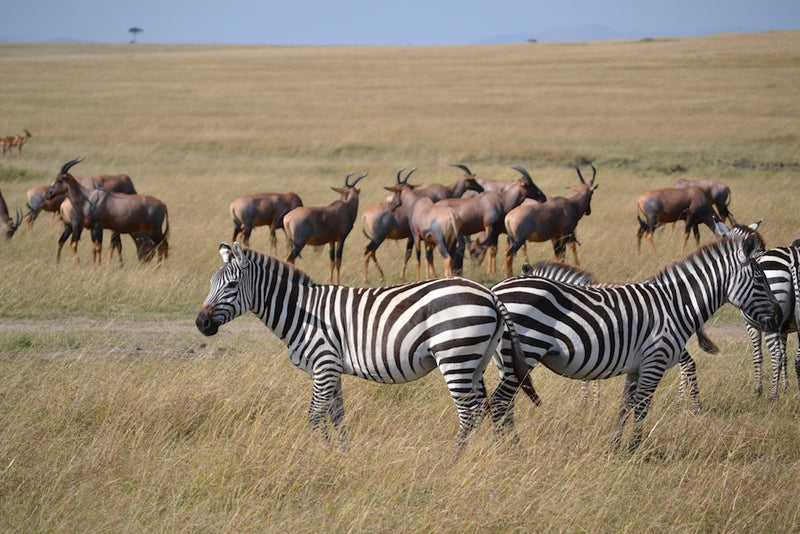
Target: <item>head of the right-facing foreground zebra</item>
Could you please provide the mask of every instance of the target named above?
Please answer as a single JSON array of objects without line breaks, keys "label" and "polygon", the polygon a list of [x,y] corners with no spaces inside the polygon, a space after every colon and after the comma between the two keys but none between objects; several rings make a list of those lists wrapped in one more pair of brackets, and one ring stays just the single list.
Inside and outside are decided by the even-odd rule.
[{"label": "head of the right-facing foreground zebra", "polygon": [[764,332],[776,332],[783,321],[781,308],[764,270],[756,261],[764,253],[764,241],[754,230],[742,233],[731,234],[728,238],[734,250],[733,275],[727,288],[728,302],[758,321]]}]

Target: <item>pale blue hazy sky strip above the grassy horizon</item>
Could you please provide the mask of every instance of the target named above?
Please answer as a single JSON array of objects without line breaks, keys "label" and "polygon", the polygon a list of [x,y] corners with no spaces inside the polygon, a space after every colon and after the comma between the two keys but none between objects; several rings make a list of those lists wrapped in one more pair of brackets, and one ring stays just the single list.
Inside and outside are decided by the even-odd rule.
[{"label": "pale blue hazy sky strip above the grassy horizon", "polygon": [[0,41],[457,45],[800,29],[800,0],[8,0]]}]

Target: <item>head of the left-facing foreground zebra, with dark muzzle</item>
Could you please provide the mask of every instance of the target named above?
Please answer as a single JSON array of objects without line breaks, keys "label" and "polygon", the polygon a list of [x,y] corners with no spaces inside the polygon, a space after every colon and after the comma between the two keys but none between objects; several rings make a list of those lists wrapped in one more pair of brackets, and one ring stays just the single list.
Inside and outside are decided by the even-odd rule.
[{"label": "head of the left-facing foreground zebra, with dark muzzle", "polygon": [[240,282],[247,280],[251,262],[239,243],[233,247],[220,243],[219,253],[224,264],[211,277],[211,290],[197,314],[195,325],[207,336],[213,336],[223,324],[239,317],[250,309],[252,292],[249,285]]}]

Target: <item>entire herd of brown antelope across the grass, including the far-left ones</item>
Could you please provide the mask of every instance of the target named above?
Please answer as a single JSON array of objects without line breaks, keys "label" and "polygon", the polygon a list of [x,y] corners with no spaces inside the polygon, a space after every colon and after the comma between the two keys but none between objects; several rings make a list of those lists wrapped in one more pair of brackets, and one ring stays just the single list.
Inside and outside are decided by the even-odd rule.
[{"label": "entire herd of brown antelope across the grass, including the far-left ones", "polygon": [[[31,137],[24,135],[2,139],[4,152],[13,146],[20,150]],[[119,254],[122,262],[121,234],[129,234],[141,261],[158,254],[164,259],[169,253],[167,242],[169,221],[166,205],[155,197],[137,193],[127,174],[74,177],[70,169],[80,163],[76,158],[65,163],[51,184],[31,188],[27,193],[28,212],[22,216],[17,208],[12,219],[0,193],[0,230],[10,238],[25,220],[31,227],[40,212],[58,215],[63,232],[58,238],[56,261],[61,249],[70,240],[75,261],[80,262],[77,246],[82,230],[91,232],[93,262],[100,263],[103,229],[112,231],[111,252]],[[436,276],[434,251],[444,260],[444,274],[451,276],[463,270],[468,256],[474,264],[488,253],[487,272],[496,270],[498,240],[507,235],[503,260],[506,276],[511,276],[514,256],[520,248],[527,260],[527,242],[551,241],[553,258],[566,260],[570,248],[573,261],[579,265],[576,228],[582,217],[591,214],[591,201],[597,189],[597,169],[586,180],[580,165],[576,167],[578,184],[570,197],[547,197],[533,182],[523,167],[511,166],[519,173],[516,180],[480,178],[463,164],[453,165],[460,176],[449,185],[432,184],[420,187],[409,183],[416,171],[412,168],[397,171],[395,183],[386,186],[391,193],[385,202],[366,209],[361,217],[362,230],[368,239],[363,252],[362,279],[369,280],[369,264],[374,263],[381,281],[385,280],[376,251],[387,239],[406,240],[401,278],[412,252],[416,254],[416,279],[420,279],[421,257],[425,254],[426,276]],[[404,174],[405,173],[405,174]],[[354,173],[345,176],[344,184],[332,188],[340,198],[327,206],[304,206],[297,193],[258,193],[242,195],[230,203],[233,219],[233,241],[250,244],[253,229],[268,226],[270,245],[277,249],[276,230],[283,229],[289,252],[286,261],[294,263],[306,245],[328,245],[330,252],[330,281],[339,283],[342,251],[345,239],[355,225],[358,214],[359,189],[356,185],[367,176],[363,173],[351,181]],[[637,244],[644,236],[655,253],[653,233],[665,223],[685,222],[682,251],[689,233],[699,243],[699,226],[705,224],[714,231],[715,219],[735,223],[728,209],[730,189],[709,180],[679,180],[671,188],[655,189],[639,196],[636,201],[639,228]]]}]

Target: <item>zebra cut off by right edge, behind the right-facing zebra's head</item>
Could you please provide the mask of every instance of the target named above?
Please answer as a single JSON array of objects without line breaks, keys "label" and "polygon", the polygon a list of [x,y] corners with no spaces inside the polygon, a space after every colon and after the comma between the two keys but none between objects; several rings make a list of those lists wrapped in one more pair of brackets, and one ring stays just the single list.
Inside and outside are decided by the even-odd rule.
[{"label": "zebra cut off by right edge, behind the right-facing zebra's head", "polygon": [[[798,269],[800,269],[800,247],[776,247],[764,252],[759,258],[758,263],[764,270],[770,289],[781,307],[783,322],[777,332],[765,333],[765,340],[770,352],[772,361],[772,384],[770,386],[769,399],[778,398],[778,382],[783,379],[783,389],[787,389],[786,383],[786,338],[790,332],[797,332],[798,313],[800,306],[797,306],[798,291]],[[763,355],[761,353],[761,333],[762,329],[757,320],[742,312],[747,327],[747,334],[753,345],[753,382],[755,391],[761,395],[761,364]],[[800,336],[798,336],[800,340]],[[800,387],[800,347],[794,358],[795,373],[798,377]]]}]

